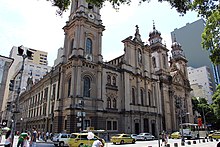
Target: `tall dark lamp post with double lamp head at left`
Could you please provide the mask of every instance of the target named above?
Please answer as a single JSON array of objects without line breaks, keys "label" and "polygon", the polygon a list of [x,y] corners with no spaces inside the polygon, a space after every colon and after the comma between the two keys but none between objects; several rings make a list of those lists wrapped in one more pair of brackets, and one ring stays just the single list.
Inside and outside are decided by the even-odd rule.
[{"label": "tall dark lamp post with double lamp head at left", "polygon": [[16,129],[16,123],[17,123],[17,118],[15,114],[20,113],[20,109],[19,109],[19,96],[20,96],[20,92],[21,92],[21,83],[22,83],[22,76],[23,76],[23,72],[24,72],[24,61],[26,58],[32,59],[32,52],[29,50],[26,50],[26,54],[24,54],[24,49],[23,46],[19,46],[18,47],[18,56],[22,57],[22,64],[21,64],[21,69],[19,70],[18,74],[20,74],[20,79],[19,79],[19,84],[18,84],[18,88],[17,88],[17,96],[14,100],[15,103],[15,110],[13,111],[13,123],[12,123],[12,142],[14,139],[14,132]]}]

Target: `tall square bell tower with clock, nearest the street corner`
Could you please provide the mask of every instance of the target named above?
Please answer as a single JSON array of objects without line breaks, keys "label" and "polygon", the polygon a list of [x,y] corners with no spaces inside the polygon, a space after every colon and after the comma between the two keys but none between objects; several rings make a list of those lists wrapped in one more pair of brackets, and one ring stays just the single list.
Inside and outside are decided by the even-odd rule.
[{"label": "tall square bell tower with clock, nearest the street corner", "polygon": [[72,0],[65,32],[63,62],[73,57],[102,62],[102,25],[100,8],[86,0]]}]

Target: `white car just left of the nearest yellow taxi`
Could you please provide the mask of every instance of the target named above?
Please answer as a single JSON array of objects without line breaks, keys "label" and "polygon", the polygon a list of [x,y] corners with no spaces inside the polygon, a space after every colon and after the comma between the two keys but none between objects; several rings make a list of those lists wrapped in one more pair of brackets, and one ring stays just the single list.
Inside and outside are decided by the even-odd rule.
[{"label": "white car just left of the nearest yellow taxi", "polygon": [[54,137],[52,138],[52,141],[55,146],[68,146],[69,137],[70,137],[70,134],[59,133],[59,134],[54,135]]}]

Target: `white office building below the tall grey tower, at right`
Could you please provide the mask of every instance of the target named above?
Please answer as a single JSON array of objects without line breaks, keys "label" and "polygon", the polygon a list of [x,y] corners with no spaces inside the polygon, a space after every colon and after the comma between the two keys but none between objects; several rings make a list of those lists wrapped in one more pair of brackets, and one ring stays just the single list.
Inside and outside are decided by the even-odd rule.
[{"label": "white office building below the tall grey tower, at right", "polygon": [[194,97],[206,98],[208,103],[212,103],[212,81],[210,69],[207,66],[192,68],[188,67],[188,77]]}]

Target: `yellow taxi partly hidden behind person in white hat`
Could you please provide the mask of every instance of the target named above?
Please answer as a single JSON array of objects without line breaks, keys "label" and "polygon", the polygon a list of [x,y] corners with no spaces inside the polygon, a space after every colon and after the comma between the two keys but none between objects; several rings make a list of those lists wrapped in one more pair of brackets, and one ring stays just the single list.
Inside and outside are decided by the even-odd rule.
[{"label": "yellow taxi partly hidden behind person in white hat", "polygon": [[[95,140],[100,139],[98,136],[94,135],[93,138],[88,139],[88,133],[71,133],[68,145],[69,147],[84,147],[92,146]],[[105,140],[102,139],[103,145],[105,145]]]}]

